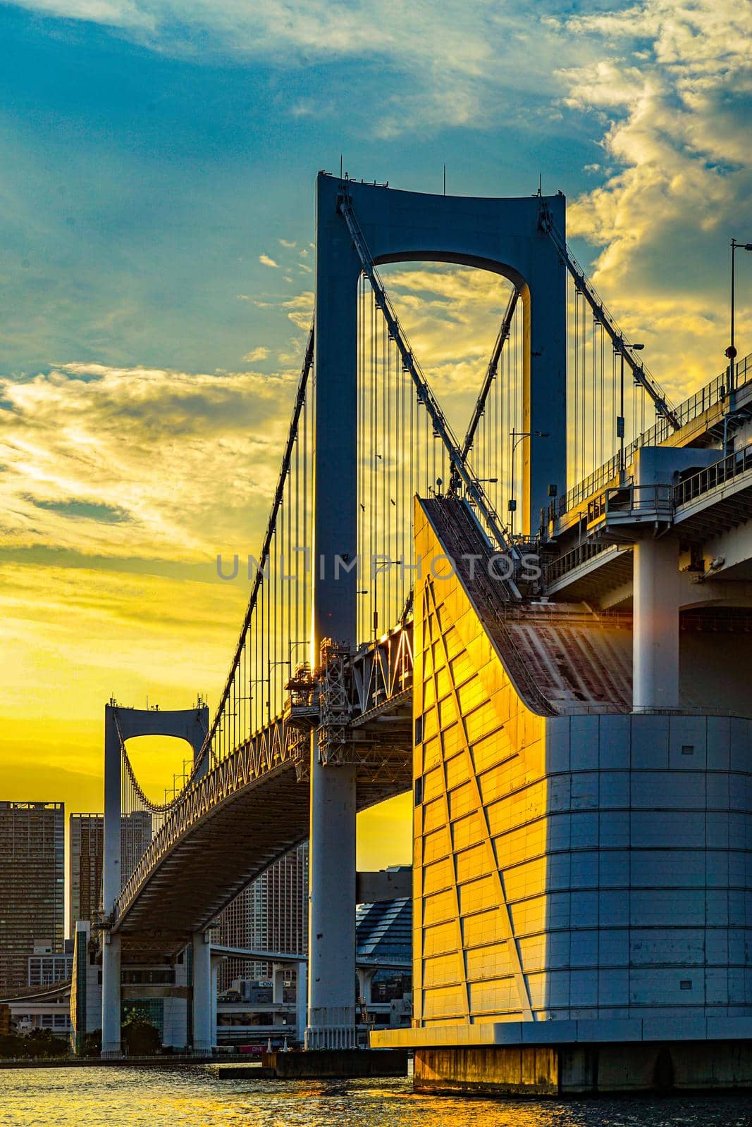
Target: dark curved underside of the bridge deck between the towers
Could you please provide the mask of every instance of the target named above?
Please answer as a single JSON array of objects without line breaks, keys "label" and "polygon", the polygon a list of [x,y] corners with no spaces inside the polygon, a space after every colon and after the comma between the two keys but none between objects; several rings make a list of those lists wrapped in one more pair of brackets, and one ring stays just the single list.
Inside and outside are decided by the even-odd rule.
[{"label": "dark curved underside of the bridge deck between the towers", "polygon": [[[409,727],[401,733],[409,740]],[[389,778],[359,771],[357,809],[408,790],[409,748]],[[336,769],[333,769],[336,770]],[[294,761],[273,767],[194,824],[144,882],[117,933],[125,961],[159,962],[180,951],[278,858],[308,840],[310,795]]]}]

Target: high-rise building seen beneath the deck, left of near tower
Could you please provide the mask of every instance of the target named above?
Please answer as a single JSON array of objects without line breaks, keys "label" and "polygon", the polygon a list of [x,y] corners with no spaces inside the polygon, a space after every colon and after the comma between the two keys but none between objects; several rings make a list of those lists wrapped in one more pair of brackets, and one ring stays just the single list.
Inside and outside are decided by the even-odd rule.
[{"label": "high-rise building seen beneath the deck, left of near tower", "polygon": [[[304,955],[308,951],[308,843],[269,866],[224,909],[219,942],[256,951]],[[228,959],[222,987],[233,978],[268,974],[262,962]]]}]

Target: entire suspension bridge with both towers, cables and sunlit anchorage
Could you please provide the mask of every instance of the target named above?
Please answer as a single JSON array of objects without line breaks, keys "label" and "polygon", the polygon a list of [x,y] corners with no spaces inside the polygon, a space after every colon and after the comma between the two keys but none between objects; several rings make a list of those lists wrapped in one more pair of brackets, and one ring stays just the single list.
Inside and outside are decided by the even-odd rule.
[{"label": "entire suspension bridge with both towers, cables and sunlit anchorage", "polygon": [[[415,1020],[399,1036],[427,1086],[472,1086],[458,1046],[554,1045],[552,1018],[560,1045],[673,1041],[682,1021],[704,1041],[729,1035],[724,1019],[742,1036],[749,971],[729,935],[752,900],[728,825],[752,817],[737,793],[749,357],[672,403],[572,255],[560,194],[319,174],[316,203],[313,323],[219,704],[211,720],[201,704],[107,707],[103,1053],[121,1050],[122,965],[186,943],[194,1046],[211,1047],[207,929],[307,838],[306,1045],[353,1046],[355,816],[410,789]],[[379,273],[405,261],[498,277],[498,332],[459,434]],[[194,749],[159,806],[129,758],[147,733]],[[695,840],[706,817],[726,826],[723,855],[705,829]],[[124,827],[142,825],[126,860]],[[706,919],[710,886],[736,889],[725,922]],[[726,955],[711,962],[714,942]],[[592,1082],[592,1054],[577,1061],[564,1080],[557,1058],[556,1083]]]}]

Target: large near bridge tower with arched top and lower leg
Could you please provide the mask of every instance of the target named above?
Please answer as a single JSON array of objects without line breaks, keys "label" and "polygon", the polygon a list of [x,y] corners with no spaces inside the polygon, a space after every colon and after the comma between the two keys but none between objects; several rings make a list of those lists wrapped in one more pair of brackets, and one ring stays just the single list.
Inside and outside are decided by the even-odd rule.
[{"label": "large near bridge tower with arched top and lower leg", "polygon": [[[313,660],[326,638],[354,648],[357,543],[357,282],[363,265],[340,204],[346,192],[373,261],[444,261],[508,278],[523,305],[523,429],[549,438],[523,459],[523,531],[549,485],[566,478],[566,276],[541,229],[541,203],[564,234],[563,195],[471,198],[397,192],[319,174],[316,190]],[[498,441],[502,441],[499,436]],[[355,1036],[356,767],[311,742],[309,1048]]]}]

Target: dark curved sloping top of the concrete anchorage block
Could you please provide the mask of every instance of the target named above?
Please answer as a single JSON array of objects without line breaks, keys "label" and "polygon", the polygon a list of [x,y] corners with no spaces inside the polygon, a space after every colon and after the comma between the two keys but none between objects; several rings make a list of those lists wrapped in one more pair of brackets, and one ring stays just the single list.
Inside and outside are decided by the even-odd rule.
[{"label": "dark curved sloping top of the concrete anchorage block", "polygon": [[494,550],[467,504],[451,497],[417,504],[531,711],[565,716],[631,710],[629,615],[596,614],[586,603],[512,600],[497,576]]}]

